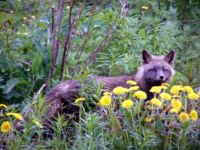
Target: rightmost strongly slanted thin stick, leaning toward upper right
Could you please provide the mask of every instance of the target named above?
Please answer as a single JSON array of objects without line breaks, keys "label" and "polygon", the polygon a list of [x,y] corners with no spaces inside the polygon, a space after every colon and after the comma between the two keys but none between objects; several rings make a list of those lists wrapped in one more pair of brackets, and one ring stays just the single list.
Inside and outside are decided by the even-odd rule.
[{"label": "rightmost strongly slanted thin stick, leaning toward upper right", "polygon": [[[112,35],[109,37],[109,39],[104,43],[103,46],[101,46],[101,45],[102,45],[102,43],[101,43],[101,44],[95,49],[95,51],[93,52],[93,54],[90,56],[90,59],[89,59],[89,61],[87,62],[85,68],[86,68],[89,64],[91,64],[91,62],[96,58],[97,54],[101,51],[101,49],[111,40],[111,38],[112,38],[112,36],[115,34],[117,28],[120,26],[120,24],[122,23],[122,21],[124,20],[124,18],[127,16],[129,10],[132,8],[134,2],[135,2],[135,1],[133,1],[133,2],[131,3],[131,5],[130,5],[129,9],[127,10],[126,14],[125,14],[124,17],[120,20],[119,24],[117,25],[117,27],[115,28],[115,30],[113,31],[113,33],[112,33]],[[122,7],[122,8],[123,8],[123,7]],[[120,10],[120,12],[121,12],[121,10]],[[110,30],[110,29],[109,29],[109,30]],[[104,39],[105,39],[105,38],[107,38],[107,36],[104,37]]]}]

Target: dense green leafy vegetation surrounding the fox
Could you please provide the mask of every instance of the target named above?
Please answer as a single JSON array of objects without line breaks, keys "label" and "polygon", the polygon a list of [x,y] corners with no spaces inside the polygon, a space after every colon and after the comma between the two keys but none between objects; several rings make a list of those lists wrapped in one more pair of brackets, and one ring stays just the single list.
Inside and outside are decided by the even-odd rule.
[{"label": "dense green leafy vegetation surrounding the fox", "polygon": [[[144,110],[138,121],[137,111],[142,110],[143,101],[129,97],[133,93],[127,98],[133,99],[138,109],[119,109],[124,126],[109,105],[85,111],[89,102],[96,104],[101,99],[102,85],[90,87],[83,83],[81,97],[86,101],[78,104],[79,121],[60,115],[50,121],[51,131],[41,125],[48,107],[44,106],[43,92],[69,79],[85,81],[97,75],[132,74],[140,66],[143,49],[152,54],[174,49],[176,74],[171,85],[190,86],[198,92],[199,5],[198,0],[0,1],[0,125],[4,123],[3,131],[8,131],[0,131],[0,148],[198,149],[199,120],[193,122],[190,116],[189,121],[180,123],[176,122],[178,114],[166,117],[152,113],[150,124],[147,122],[151,117]],[[179,99],[185,112],[194,109],[200,113],[198,101],[190,103],[183,92]],[[164,104],[162,101],[162,107]],[[149,105],[153,110],[157,108]],[[13,119],[20,119],[20,114],[23,117],[29,107],[35,112],[29,113],[29,123],[23,121],[24,130],[14,135]],[[173,119],[166,133],[162,122],[170,117]],[[138,128],[133,126],[135,118]]]}]

